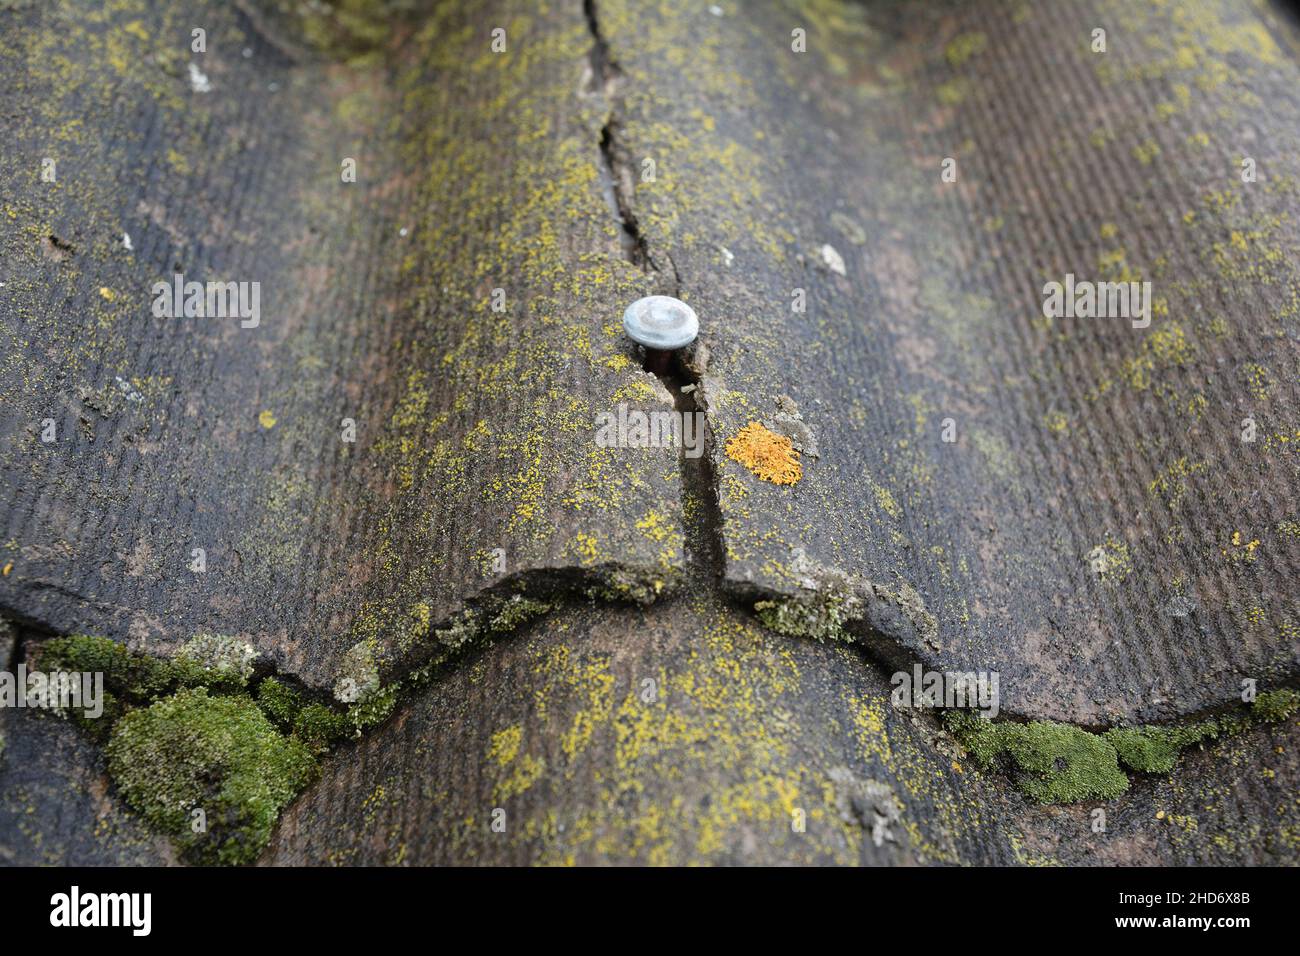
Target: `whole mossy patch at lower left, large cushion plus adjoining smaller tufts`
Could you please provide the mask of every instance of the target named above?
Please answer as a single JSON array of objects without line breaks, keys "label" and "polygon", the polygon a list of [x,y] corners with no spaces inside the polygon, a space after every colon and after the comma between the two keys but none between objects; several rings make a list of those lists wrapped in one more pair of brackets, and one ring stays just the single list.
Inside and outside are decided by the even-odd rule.
[{"label": "whole mossy patch at lower left, large cushion plus adjoining smaller tufts", "polygon": [[[251,645],[220,635],[194,637],[173,659],[86,635],[38,650],[43,670],[104,674],[103,717],[69,715],[107,745],[109,773],[131,808],[190,861],[217,864],[256,858],[316,773],[316,757],[396,705],[395,687],[376,688],[346,713],[306,704],[277,678],[250,688],[255,658]],[[198,832],[194,810],[203,810]]]}]

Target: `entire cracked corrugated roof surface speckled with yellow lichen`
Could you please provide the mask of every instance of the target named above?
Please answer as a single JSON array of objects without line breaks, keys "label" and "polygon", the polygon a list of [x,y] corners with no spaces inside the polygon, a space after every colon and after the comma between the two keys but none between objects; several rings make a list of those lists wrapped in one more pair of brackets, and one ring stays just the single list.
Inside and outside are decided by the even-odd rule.
[{"label": "entire cracked corrugated roof surface speckled with yellow lichen", "polygon": [[[185,5],[0,10],[0,618],[400,697],[269,864],[1297,861],[1294,718],[1043,808],[889,700],[994,671],[1113,762],[1079,727],[1295,684],[1294,25],[406,7],[238,0],[203,53]],[[155,316],[177,272],[257,328]],[[1149,328],[1045,317],[1067,273]],[[655,293],[701,319],[662,378]],[[602,447],[620,406],[708,454]],[[172,858],[98,747],[0,721],[6,861]]]}]

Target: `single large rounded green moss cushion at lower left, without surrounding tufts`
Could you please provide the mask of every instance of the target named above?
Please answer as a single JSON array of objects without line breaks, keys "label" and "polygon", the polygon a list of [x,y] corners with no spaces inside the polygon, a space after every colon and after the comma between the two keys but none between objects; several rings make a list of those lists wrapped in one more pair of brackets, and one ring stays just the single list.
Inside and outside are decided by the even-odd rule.
[{"label": "single large rounded green moss cushion at lower left, without surrounding tufts", "polygon": [[[248,697],[183,688],[113,727],[108,769],[126,801],[194,862],[252,862],[316,760]],[[205,829],[195,832],[195,810]]]}]

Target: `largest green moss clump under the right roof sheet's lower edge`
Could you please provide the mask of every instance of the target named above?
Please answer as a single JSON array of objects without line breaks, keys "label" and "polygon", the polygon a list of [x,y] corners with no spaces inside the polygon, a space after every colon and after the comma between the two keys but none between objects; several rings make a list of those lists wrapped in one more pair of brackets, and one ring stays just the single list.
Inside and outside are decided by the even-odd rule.
[{"label": "largest green moss clump under the right roof sheet's lower edge", "polygon": [[1067,723],[985,721],[952,711],[949,728],[980,766],[1010,765],[1017,784],[1043,804],[1109,800],[1128,790],[1115,748]]}]

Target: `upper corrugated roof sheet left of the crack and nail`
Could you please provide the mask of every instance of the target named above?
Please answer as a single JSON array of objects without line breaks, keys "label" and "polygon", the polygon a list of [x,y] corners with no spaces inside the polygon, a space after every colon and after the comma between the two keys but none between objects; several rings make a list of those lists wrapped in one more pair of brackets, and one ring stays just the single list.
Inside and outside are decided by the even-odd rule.
[{"label": "upper corrugated roof sheet left of the crack and nail", "polygon": [[[512,14],[534,42],[499,57],[443,10],[391,70],[243,10],[204,53],[170,4],[0,14],[0,607],[329,685],[489,588],[653,597],[676,455],[592,423],[672,399],[618,326],[655,284],[602,195],[581,9]],[[177,272],[260,282],[260,324],[151,315]]]}]

